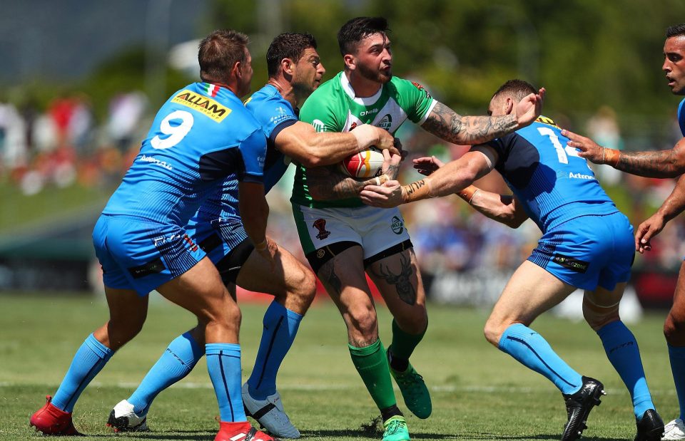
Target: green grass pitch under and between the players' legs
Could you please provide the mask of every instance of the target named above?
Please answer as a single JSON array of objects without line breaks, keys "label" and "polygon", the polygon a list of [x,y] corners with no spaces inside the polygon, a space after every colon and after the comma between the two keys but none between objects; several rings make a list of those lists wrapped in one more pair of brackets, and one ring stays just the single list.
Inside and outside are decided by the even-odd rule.
[{"label": "green grass pitch under and between the players' legs", "polygon": [[[1,440],[32,440],[29,416],[53,394],[74,351],[106,318],[93,297],[0,296]],[[266,305],[243,303],[243,379],[250,374]],[[381,336],[390,318],[380,307]],[[430,326],[412,362],[429,385],[433,414],[407,412],[414,440],[559,440],[566,421],[561,395],[537,373],[497,351],[482,337],[487,311],[429,305]],[[677,411],[666,344],[664,313],[632,326],[640,343],[654,401],[665,420]],[[153,432],[115,435],[105,426],[112,406],[128,398],[172,338],[193,317],[153,295],[141,334],[106,365],[74,411],[81,440],[211,440],[218,428],[215,397],[203,361],[183,382],[157,398],[148,424]],[[593,411],[584,440],[632,440],[630,398],[604,356],[599,338],[584,323],[542,316],[533,328],[570,365],[599,378],[608,395]],[[328,301],[315,303],[285,359],[278,385],[291,420],[305,440],[380,440],[362,426],[378,415],[350,361],[342,319]],[[399,397],[399,393],[398,397]],[[404,405],[400,398],[400,408]]]}]

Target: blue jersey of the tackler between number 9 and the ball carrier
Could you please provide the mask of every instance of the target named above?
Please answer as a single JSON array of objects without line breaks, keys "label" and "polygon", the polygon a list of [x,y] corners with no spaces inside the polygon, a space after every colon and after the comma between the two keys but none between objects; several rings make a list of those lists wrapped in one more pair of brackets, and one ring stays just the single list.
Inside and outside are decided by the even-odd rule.
[{"label": "blue jersey of the tackler between number 9 and the ball carrier", "polygon": [[[273,85],[265,85],[245,101],[245,108],[252,113],[262,125],[267,141],[266,160],[264,163],[264,190],[269,192],[278,183],[290,158],[275,148],[275,138],[281,130],[298,122],[293,106],[280,95]],[[239,216],[238,213],[238,180],[234,175],[228,176],[220,190],[213,193],[198,210],[194,220],[216,219],[219,217]]]}]

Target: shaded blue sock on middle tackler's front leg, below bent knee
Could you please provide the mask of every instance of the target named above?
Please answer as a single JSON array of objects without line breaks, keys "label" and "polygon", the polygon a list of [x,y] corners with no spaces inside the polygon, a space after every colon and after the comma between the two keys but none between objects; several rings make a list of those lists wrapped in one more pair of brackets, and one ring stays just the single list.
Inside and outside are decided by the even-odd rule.
[{"label": "shaded blue sock on middle tackler's front leg, below bent knee", "polygon": [[272,301],[264,313],[264,330],[259,343],[255,368],[248,379],[250,395],[265,400],[276,393],[276,374],[285,354],[293,345],[302,316]]}]

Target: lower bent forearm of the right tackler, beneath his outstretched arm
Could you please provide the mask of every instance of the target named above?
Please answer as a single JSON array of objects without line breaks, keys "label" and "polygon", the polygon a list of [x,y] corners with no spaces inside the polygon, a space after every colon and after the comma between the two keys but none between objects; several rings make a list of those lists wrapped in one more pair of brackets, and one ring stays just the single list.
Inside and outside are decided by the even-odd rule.
[{"label": "lower bent forearm of the right tackler, beneath his outstretched arm", "polygon": [[457,195],[477,212],[508,227],[518,228],[528,219],[526,212],[515,203],[516,199],[512,196],[487,192],[473,185],[457,192]]}]

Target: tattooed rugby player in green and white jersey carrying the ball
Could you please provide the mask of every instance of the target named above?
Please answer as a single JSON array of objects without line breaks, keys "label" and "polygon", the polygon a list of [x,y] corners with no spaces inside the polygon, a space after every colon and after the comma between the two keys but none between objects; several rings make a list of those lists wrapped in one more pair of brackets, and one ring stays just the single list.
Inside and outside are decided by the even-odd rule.
[{"label": "tattooed rugby player in green and white jersey carrying the ball", "polygon": [[[409,119],[448,142],[476,144],[529,125],[539,116],[542,89],[517,103],[511,115],[458,115],[422,85],[392,76],[387,31],[382,17],[359,17],[340,28],[345,68],[308,98],[300,120],[319,132],[347,132],[370,123],[395,133]],[[352,362],[380,409],[383,440],[406,441],[407,423],[397,408],[390,374],[407,408],[417,417],[429,417],[430,394],[409,362],[427,329],[425,291],[402,214],[364,206],[357,197],[364,185],[341,179],[335,166],[299,167],[291,202],[300,243],[340,309]],[[378,338],[365,274],[394,317],[387,351]]]}]

